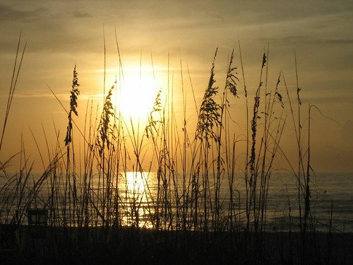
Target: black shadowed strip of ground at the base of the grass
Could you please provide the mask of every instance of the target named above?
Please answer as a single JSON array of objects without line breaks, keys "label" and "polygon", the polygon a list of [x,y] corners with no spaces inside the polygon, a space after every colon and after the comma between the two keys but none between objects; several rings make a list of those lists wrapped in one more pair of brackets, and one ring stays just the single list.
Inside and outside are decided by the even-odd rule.
[{"label": "black shadowed strip of ground at the base of the grass", "polygon": [[0,264],[353,264],[353,234],[0,225]]}]

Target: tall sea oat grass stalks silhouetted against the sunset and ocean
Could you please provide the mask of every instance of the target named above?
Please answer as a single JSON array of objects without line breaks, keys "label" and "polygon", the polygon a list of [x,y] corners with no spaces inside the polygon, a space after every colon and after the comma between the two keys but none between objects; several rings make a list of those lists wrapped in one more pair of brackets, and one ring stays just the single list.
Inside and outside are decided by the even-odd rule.
[{"label": "tall sea oat grass stalks silhouetted against the sunset and ocean", "polygon": [[[116,48],[119,77],[124,79],[117,41]],[[177,231],[177,242],[191,231],[203,232],[199,235],[207,238],[205,242],[222,241],[225,238],[221,235],[230,235],[232,244],[225,247],[225,252],[229,254],[245,249],[249,261],[260,261],[266,259],[265,232],[268,232],[270,180],[275,170],[275,160],[281,156],[289,162],[289,167],[297,176],[301,262],[307,263],[309,258],[313,262],[313,256],[309,254],[309,247],[313,247],[313,244],[308,242],[313,242],[315,238],[314,234],[307,233],[308,230],[314,232],[310,201],[310,141],[304,152],[300,88],[297,86],[296,117],[284,74],[279,73],[275,86],[268,85],[268,51],[262,57],[254,98],[250,98],[249,88],[246,87],[240,45],[238,64],[242,81],[237,73],[239,67],[235,66],[237,60],[233,49],[227,62],[225,85],[220,89],[215,80],[216,59],[217,49],[203,100],[199,107],[196,104],[196,126],[189,122],[186,113],[189,110],[186,108],[189,91],[184,86],[181,64],[181,126],[175,112],[174,73],[168,70],[165,100],[162,100],[163,90],[158,90],[145,124],[136,124],[132,118],[128,120],[121,114],[117,105],[119,102],[114,104],[113,98],[114,90],[119,90],[121,83],[116,81],[106,93],[104,73],[105,98],[102,110],[98,111],[98,107],[95,110],[93,101],[88,101],[85,126],[78,128],[73,114],[75,119],[82,116],[78,117],[80,92],[75,66],[68,111],[59,101],[68,114],[64,146],[59,130],[55,129],[55,148],[49,151],[47,147],[50,162],[39,179],[33,179],[33,184],[30,183],[32,165],[28,166],[24,148],[20,151],[23,165],[19,173],[8,177],[1,187],[1,220],[25,224],[29,208],[46,209],[49,212],[49,227],[63,228],[51,235],[57,246],[51,251],[57,257],[64,255],[72,258],[77,253],[82,254],[90,242],[106,249],[114,244],[115,247],[121,247],[121,243],[116,241],[121,236],[124,242],[139,244],[138,234],[124,237],[122,231],[128,227],[134,228],[133,231],[143,228]],[[16,80],[15,85],[11,85],[10,106]],[[287,102],[280,91],[282,80]],[[241,82],[244,95],[239,95],[238,86]],[[191,78],[190,86],[193,88]],[[193,90],[191,95],[197,103]],[[245,134],[234,129],[236,122],[233,120],[234,108],[231,107],[240,104],[241,98],[246,102]],[[294,170],[293,163],[280,147],[282,135],[289,124],[288,114],[292,117],[297,137],[297,170]],[[6,123],[3,135],[5,126]],[[241,143],[246,146],[244,153],[238,153],[237,147]],[[244,168],[237,163],[241,156],[245,157]],[[5,174],[7,163],[1,164],[1,171]],[[154,174],[155,184],[150,182]],[[128,186],[130,177],[133,188]],[[240,192],[241,188],[237,187],[236,182],[244,184],[244,193]],[[288,229],[292,230],[294,224],[290,225]],[[258,256],[253,256],[254,253]]]}]

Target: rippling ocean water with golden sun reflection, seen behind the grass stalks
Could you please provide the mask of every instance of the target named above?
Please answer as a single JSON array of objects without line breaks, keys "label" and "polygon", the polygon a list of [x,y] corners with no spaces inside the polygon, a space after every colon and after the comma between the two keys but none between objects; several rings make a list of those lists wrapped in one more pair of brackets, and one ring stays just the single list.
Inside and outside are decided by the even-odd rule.
[{"label": "rippling ocean water with golden sun reflection, seen behind the grass stalks", "polygon": [[[39,176],[33,176],[33,179],[38,179]],[[108,205],[107,201],[102,199],[107,196],[103,192],[106,190],[107,182],[103,178],[93,177],[89,186],[90,208],[88,209],[91,220],[90,223],[95,223],[97,216],[107,212],[104,206]],[[214,198],[213,177],[208,178],[209,198]],[[20,194],[11,185],[5,185],[6,178],[0,177],[0,221],[1,223],[9,223],[16,216],[16,211],[23,207],[30,208],[56,208],[56,215],[62,216],[63,201],[68,200],[63,192],[66,189],[66,179],[46,179],[40,189],[33,194],[32,186],[35,181],[28,181],[23,187],[23,198],[11,196]],[[12,182],[12,185],[16,182]],[[72,180],[71,180],[72,184]],[[82,197],[83,185],[82,177],[76,176],[78,206],[67,206],[67,209],[75,208],[73,211],[80,211],[80,198]],[[114,208],[112,218],[119,215],[119,220],[123,225],[139,225],[141,227],[152,228],[156,222],[162,224],[164,228],[170,228],[170,225],[177,228],[178,224],[184,220],[192,223],[194,220],[193,214],[195,206],[193,201],[195,194],[192,193],[191,185],[189,185],[188,177],[186,177],[186,185],[183,186],[183,177],[174,176],[167,179],[159,179],[155,172],[124,172],[119,175],[118,182],[116,179],[111,179],[109,182],[109,194],[114,204],[109,207]],[[328,231],[329,229],[337,232],[353,232],[353,174],[352,173],[319,173],[311,176],[311,220],[313,220],[313,228],[320,231]],[[187,191],[183,195],[184,189]],[[70,190],[70,189],[66,189]],[[70,190],[72,194],[72,189]],[[199,186],[198,197],[202,201],[203,189]],[[115,196],[116,195],[116,196]],[[229,181],[227,177],[221,179],[220,186],[220,215],[222,220],[229,218]],[[268,198],[265,214],[265,229],[267,230],[297,230],[299,224],[299,199],[301,198],[302,215],[304,214],[303,196],[298,192],[298,181],[293,174],[288,172],[274,172],[270,176],[268,184]],[[31,204],[26,204],[26,198],[32,200]],[[116,199],[114,199],[116,198]],[[74,204],[73,199],[69,200]],[[81,200],[82,201],[82,200]],[[202,202],[198,202],[199,218],[205,218]],[[233,184],[233,201],[234,209],[237,211],[234,214],[234,220],[238,225],[244,225],[246,211],[246,189],[245,181],[242,175],[234,177]],[[54,203],[53,203],[54,202]],[[51,207],[49,207],[51,206]],[[208,207],[214,208],[212,202],[207,204]],[[179,209],[179,211],[177,210]],[[95,212],[99,211],[100,214]],[[212,218],[212,211],[208,211]],[[26,224],[26,213],[20,220]],[[59,213],[59,214],[57,214]],[[83,212],[81,212],[83,213]],[[182,214],[187,216],[183,219]],[[53,216],[50,215],[49,216]],[[62,221],[62,218],[60,218]],[[60,223],[57,223],[60,224]],[[96,222],[97,224],[97,222]],[[100,224],[98,222],[98,224]],[[169,226],[168,226],[169,225]],[[161,225],[163,227],[163,225]]]}]

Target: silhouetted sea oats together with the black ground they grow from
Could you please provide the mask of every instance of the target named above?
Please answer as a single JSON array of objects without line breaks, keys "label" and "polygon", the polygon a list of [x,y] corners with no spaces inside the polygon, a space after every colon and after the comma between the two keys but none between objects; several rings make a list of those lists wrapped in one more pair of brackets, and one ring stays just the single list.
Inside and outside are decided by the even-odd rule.
[{"label": "silhouetted sea oats together with the black ground they grow from", "polygon": [[[63,141],[56,131],[54,151],[48,147],[50,163],[42,175],[33,178],[24,150],[18,154],[25,161],[18,172],[10,175],[7,161],[0,165],[6,179],[0,191],[0,259],[17,264],[348,262],[345,250],[349,245],[345,244],[352,246],[350,235],[333,234],[330,222],[328,232],[316,231],[310,201],[310,141],[303,141],[299,85],[294,91],[294,110],[284,73],[279,73],[275,87],[268,86],[265,52],[251,99],[240,45],[239,66],[234,66],[233,50],[223,88],[216,86],[216,59],[217,50],[201,106],[195,110],[196,127],[188,123],[183,98],[181,128],[175,122],[172,95],[163,103],[161,90],[147,124],[126,120],[112,102],[117,82],[105,95],[102,113],[93,113],[88,106],[85,128],[76,128],[80,92],[75,66],[66,137]],[[8,111],[16,79],[13,83]],[[239,95],[239,83],[244,84],[244,97]],[[285,91],[280,91],[280,83]],[[230,117],[231,105],[237,105],[237,100],[246,101],[243,139],[234,131]],[[289,161],[280,145],[288,124],[296,134],[298,165]],[[6,124],[3,135],[5,129]],[[245,153],[237,153],[240,143],[245,143]],[[239,155],[245,156],[241,168],[236,163]],[[298,208],[289,201],[290,223],[285,232],[271,232],[266,226],[270,179],[278,156],[296,176],[298,187]],[[128,187],[128,177],[133,178],[133,188]],[[242,179],[244,187],[237,186],[237,179]],[[41,211],[32,211],[38,209]],[[30,224],[28,211],[44,219]]]}]

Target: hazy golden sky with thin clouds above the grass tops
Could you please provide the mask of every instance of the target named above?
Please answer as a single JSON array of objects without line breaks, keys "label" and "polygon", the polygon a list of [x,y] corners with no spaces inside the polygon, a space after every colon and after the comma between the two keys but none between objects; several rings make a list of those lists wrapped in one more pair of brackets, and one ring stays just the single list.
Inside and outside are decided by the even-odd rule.
[{"label": "hazy golden sky with thin clouds above the grass tops", "polygon": [[[318,172],[353,172],[352,1],[0,0],[0,33],[1,124],[20,34],[21,47],[27,43],[2,163],[20,151],[21,142],[28,159],[39,163],[35,141],[43,146],[45,137],[55,136],[54,126],[66,130],[66,114],[48,86],[68,104],[75,65],[80,96],[102,96],[104,47],[107,87],[114,84],[119,69],[116,40],[131,82],[139,69],[148,75],[153,66],[160,76],[157,86],[165,87],[168,69],[175,71],[177,80],[182,67],[186,76],[190,74],[198,102],[216,48],[217,73],[224,73],[234,48],[241,77],[240,43],[249,90],[258,85],[267,50],[269,84],[275,84],[282,71],[289,88],[296,88],[297,58],[303,111],[309,104],[320,110],[312,109],[313,167]],[[224,82],[222,76],[219,80]],[[85,112],[85,105],[79,107]]]}]

